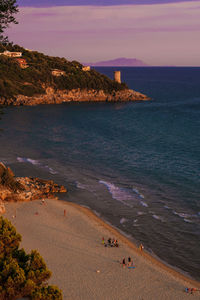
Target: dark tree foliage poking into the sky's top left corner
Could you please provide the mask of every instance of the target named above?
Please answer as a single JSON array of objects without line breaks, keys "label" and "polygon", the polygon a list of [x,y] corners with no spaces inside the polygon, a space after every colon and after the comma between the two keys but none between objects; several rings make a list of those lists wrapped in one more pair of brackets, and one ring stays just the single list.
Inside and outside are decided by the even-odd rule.
[{"label": "dark tree foliage poking into the sky's top left corner", "polygon": [[13,16],[17,12],[16,0],[0,0],[0,43],[8,43],[8,37],[4,36],[4,31],[10,23],[17,24]]}]

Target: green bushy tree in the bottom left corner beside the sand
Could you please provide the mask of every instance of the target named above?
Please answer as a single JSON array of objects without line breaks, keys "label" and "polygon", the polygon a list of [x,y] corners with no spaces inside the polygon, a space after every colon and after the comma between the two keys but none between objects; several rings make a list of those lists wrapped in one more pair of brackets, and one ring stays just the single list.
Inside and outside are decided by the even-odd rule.
[{"label": "green bushy tree in the bottom left corner beside the sand", "polygon": [[19,249],[21,236],[15,227],[0,217],[0,299],[62,300],[62,293],[46,281],[51,272],[40,254]]}]

